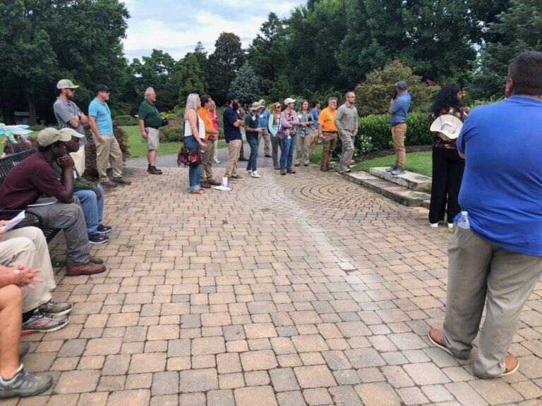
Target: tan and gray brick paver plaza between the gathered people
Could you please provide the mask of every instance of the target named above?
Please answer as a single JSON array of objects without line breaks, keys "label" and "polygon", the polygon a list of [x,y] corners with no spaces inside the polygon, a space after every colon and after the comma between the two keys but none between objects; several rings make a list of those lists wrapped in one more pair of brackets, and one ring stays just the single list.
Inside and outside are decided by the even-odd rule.
[{"label": "tan and gray brick paver plaza between the gathered people", "polygon": [[[231,192],[188,195],[186,169],[108,191],[107,273],[64,278],[70,324],[23,338],[52,390],[6,405],[541,405],[542,284],[510,352],[516,374],[480,380],[476,354],[428,344],[442,326],[444,228],[311,166]],[[217,169],[222,174],[222,169]],[[63,261],[62,235],[49,245]]]}]

